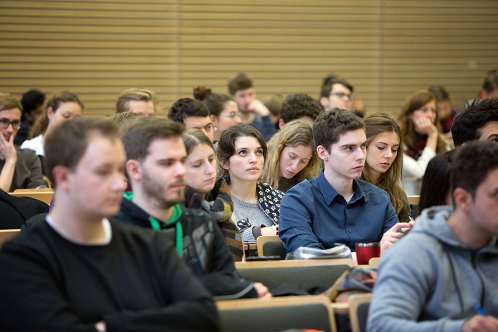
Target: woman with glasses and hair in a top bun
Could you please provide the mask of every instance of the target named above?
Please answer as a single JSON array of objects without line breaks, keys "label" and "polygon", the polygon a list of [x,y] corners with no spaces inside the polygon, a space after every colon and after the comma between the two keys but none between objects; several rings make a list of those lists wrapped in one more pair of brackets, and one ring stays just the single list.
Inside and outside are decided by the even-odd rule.
[{"label": "woman with glasses and hair in a top bun", "polygon": [[194,98],[204,102],[211,113],[214,128],[214,142],[220,140],[223,130],[232,124],[241,123],[241,113],[234,99],[224,94],[213,94],[203,85],[194,88]]}]

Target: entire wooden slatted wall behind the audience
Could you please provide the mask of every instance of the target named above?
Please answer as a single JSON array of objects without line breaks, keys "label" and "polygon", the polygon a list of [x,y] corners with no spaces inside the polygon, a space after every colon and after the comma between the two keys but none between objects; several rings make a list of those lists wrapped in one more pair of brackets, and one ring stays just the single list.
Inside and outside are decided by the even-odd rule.
[{"label": "entire wooden slatted wall behind the audience", "polygon": [[226,93],[239,71],[260,98],[318,98],[335,73],[369,112],[395,114],[429,84],[458,106],[498,67],[497,15],[495,0],[0,1],[0,91],[68,89],[110,114],[132,86],[167,109],[198,84]]}]

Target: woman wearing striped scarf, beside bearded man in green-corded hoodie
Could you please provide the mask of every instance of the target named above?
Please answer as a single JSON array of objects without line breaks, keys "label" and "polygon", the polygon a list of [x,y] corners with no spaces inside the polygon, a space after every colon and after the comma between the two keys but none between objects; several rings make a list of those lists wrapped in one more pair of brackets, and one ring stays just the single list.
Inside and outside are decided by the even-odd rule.
[{"label": "woman wearing striped scarf, beside bearded man in green-corded hoodie", "polygon": [[209,212],[218,222],[234,260],[242,261],[242,235],[232,220],[234,203],[230,189],[223,178],[216,179],[213,143],[201,130],[194,128],[187,128],[182,138],[188,155],[185,161],[187,189],[184,204],[187,208]]}]

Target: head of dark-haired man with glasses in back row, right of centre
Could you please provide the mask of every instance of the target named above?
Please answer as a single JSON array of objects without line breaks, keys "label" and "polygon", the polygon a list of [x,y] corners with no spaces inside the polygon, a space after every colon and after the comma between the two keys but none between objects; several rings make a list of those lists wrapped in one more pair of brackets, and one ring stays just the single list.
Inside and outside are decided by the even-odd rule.
[{"label": "head of dark-haired man with glasses in back row, right of centre", "polygon": [[343,79],[333,79],[322,87],[320,104],[325,111],[337,107],[351,111],[353,101],[353,86]]}]

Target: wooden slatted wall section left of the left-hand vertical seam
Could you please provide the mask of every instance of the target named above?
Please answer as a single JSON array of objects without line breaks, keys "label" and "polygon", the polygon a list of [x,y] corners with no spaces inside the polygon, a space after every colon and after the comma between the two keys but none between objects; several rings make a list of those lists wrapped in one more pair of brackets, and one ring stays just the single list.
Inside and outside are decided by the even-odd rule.
[{"label": "wooden slatted wall section left of the left-hand vertical seam", "polygon": [[178,4],[159,0],[0,2],[0,91],[77,93],[111,114],[121,91],[178,91]]}]

